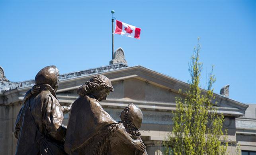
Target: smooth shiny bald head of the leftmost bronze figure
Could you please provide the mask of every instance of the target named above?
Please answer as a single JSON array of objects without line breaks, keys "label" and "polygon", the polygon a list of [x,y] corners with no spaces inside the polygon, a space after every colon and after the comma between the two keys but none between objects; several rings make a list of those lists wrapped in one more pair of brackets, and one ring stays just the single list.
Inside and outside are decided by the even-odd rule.
[{"label": "smooth shiny bald head of the leftmost bronze figure", "polygon": [[59,86],[59,69],[56,66],[46,66],[35,76],[35,84],[49,84],[55,92]]}]

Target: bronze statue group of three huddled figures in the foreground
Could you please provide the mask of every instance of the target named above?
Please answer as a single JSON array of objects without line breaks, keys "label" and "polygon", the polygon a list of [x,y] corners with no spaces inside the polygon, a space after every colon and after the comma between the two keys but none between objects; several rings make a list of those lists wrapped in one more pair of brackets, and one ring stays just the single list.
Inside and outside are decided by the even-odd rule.
[{"label": "bronze statue group of three huddled figures in the foreground", "polygon": [[85,82],[70,106],[61,106],[56,97],[58,81],[55,66],[35,76],[16,120],[16,155],[147,155],[139,132],[141,109],[130,103],[117,122],[100,105],[114,91],[107,77],[95,75]]}]

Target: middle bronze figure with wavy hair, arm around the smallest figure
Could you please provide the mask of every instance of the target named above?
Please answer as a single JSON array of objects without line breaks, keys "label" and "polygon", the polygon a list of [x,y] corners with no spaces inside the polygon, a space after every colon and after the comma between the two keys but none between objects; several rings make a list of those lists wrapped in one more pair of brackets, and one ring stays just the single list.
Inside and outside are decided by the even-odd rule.
[{"label": "middle bronze figure with wavy hair, arm around the smallest figure", "polygon": [[100,105],[99,101],[106,100],[107,95],[113,92],[113,86],[107,77],[96,75],[78,88],[77,92],[79,97],[70,109],[66,130],[64,144],[66,153],[69,155],[111,154],[110,149],[116,149],[111,148],[113,137],[135,150],[142,153],[145,151],[146,147],[141,139],[132,138],[133,136],[125,130],[123,124],[116,122]]}]

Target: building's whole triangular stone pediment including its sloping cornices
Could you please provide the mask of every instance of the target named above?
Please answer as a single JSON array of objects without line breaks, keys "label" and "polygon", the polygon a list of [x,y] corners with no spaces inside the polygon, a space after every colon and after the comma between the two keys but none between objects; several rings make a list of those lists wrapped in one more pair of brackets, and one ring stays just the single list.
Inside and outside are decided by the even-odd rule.
[{"label": "building's whole triangular stone pediment including its sloping cornices", "polygon": [[[124,67],[121,69],[109,69],[104,72],[95,72],[92,74],[79,75],[78,77],[64,78],[59,82],[57,98],[61,104],[70,104],[78,98],[76,90],[92,78],[96,74],[102,74],[108,77],[115,91],[111,93],[107,100],[102,102],[103,106],[107,107],[125,107],[133,102],[140,105],[140,108],[173,111],[175,110],[175,97],[178,95],[178,90],[186,90],[189,85],[175,78],[160,74],[145,67]],[[69,74],[68,74],[69,75]],[[76,75],[76,73],[72,73]],[[23,100],[25,92],[31,86],[17,88],[5,93],[7,100],[6,104],[15,103]],[[220,113],[226,113],[231,116],[244,115],[248,105],[231,100],[225,96],[214,94],[217,102],[216,106]]]}]

